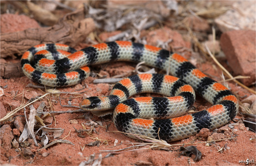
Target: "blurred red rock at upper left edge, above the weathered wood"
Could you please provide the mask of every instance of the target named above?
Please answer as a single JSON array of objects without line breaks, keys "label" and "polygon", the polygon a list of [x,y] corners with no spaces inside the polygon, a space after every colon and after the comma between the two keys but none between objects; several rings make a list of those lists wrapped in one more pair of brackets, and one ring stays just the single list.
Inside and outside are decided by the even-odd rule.
[{"label": "blurred red rock at upper left edge, above the weathered wood", "polygon": [[40,27],[39,24],[28,16],[1,14],[1,33],[24,31],[36,27]]}]

